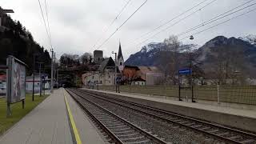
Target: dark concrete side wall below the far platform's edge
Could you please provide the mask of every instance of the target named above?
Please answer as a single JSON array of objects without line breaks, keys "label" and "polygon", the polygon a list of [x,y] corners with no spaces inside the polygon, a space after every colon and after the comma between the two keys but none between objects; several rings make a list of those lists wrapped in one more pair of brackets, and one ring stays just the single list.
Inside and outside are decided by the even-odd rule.
[{"label": "dark concrete side wall below the far platform's edge", "polygon": [[231,126],[242,130],[249,130],[256,132],[256,119],[242,117],[233,114],[224,114],[211,110],[202,110],[189,106],[178,106],[170,103],[155,102],[142,98],[131,98],[120,96],[118,94],[107,94],[98,91],[90,91],[94,94],[101,94],[102,96],[109,96],[112,98],[119,98],[128,102],[135,102],[145,106],[151,106],[161,110],[170,111],[176,114],[186,115],[190,118],[198,118],[208,122],[215,122],[224,126]]}]

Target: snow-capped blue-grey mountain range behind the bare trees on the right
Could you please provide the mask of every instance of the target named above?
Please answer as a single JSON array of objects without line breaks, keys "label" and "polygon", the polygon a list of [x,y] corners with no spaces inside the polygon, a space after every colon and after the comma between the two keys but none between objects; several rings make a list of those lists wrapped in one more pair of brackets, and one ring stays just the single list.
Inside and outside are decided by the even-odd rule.
[{"label": "snow-capped blue-grey mountain range behind the bare trees on the right", "polygon": [[[212,38],[200,48],[196,47],[195,49],[197,50],[195,53],[198,61],[202,62],[204,66],[209,67],[212,65],[214,58],[217,57],[216,51],[225,51],[226,47],[231,47],[231,50],[234,50],[234,52],[236,50],[242,51],[241,54],[244,54],[246,66],[255,68],[256,70],[256,36],[254,35],[248,35],[244,38],[218,36]],[[185,51],[186,49],[182,49],[181,47],[181,57],[183,57],[182,53]],[[159,66],[162,59],[168,60],[170,58],[170,53],[163,42],[152,42],[143,46],[137,53],[131,54],[125,64],[130,66]]]}]

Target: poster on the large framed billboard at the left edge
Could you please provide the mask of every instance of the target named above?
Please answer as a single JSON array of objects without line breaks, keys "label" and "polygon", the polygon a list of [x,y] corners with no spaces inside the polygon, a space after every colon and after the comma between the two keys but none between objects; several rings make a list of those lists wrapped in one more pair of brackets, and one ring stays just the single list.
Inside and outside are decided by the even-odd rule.
[{"label": "poster on the large framed billboard at the left edge", "polygon": [[10,103],[20,102],[26,95],[26,64],[13,56],[8,57],[8,79],[10,81],[8,94]]}]

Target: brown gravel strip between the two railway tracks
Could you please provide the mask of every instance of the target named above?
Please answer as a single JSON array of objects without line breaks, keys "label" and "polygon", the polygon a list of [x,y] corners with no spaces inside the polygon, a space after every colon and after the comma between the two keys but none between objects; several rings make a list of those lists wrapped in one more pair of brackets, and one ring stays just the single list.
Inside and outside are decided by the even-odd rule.
[{"label": "brown gravel strip between the two railway tracks", "polygon": [[194,131],[186,130],[185,127],[159,121],[151,118],[146,114],[141,114],[124,108],[122,106],[114,105],[113,103],[100,100],[98,98],[86,96],[92,102],[98,103],[107,110],[112,111],[114,114],[118,114],[120,117],[125,118],[129,122],[134,123],[146,131],[152,132],[152,134],[158,135],[158,138],[163,138],[166,142],[172,143],[219,143],[212,138],[206,138],[202,134],[197,134]]}]

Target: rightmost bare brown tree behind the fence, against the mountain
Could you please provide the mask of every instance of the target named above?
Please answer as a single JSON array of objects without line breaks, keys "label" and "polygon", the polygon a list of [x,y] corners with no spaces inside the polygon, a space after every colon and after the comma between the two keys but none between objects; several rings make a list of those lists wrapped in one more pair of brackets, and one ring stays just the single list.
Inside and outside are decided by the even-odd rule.
[{"label": "rightmost bare brown tree behind the fence, against the mountain", "polygon": [[222,46],[215,50],[214,59],[216,84],[243,84],[246,82],[244,52],[236,46]]}]

